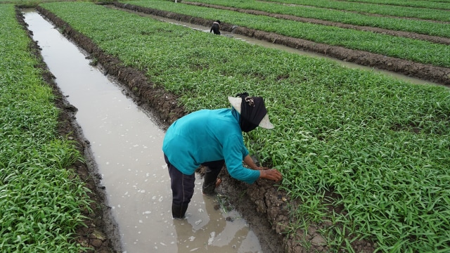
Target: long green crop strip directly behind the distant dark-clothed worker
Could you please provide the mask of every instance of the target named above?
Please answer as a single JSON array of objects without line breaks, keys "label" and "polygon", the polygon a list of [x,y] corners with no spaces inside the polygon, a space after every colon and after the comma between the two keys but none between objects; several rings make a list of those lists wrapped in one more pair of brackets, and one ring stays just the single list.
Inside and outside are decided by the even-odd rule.
[{"label": "long green crop strip directly behind the distant dark-clothed worker", "polygon": [[216,20],[220,17],[219,19],[221,21],[229,24],[262,30],[264,32],[276,32],[287,37],[378,53],[383,56],[412,60],[416,63],[450,67],[450,47],[428,41],[295,22],[292,20],[280,20],[264,15],[236,13],[234,11],[191,6],[182,3],[174,4],[170,1],[126,1],[124,3],[210,20]]}]

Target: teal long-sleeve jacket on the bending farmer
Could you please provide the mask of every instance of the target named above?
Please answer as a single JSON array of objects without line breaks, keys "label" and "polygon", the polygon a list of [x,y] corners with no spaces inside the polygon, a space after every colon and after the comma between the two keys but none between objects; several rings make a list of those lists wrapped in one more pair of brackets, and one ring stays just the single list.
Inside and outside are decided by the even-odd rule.
[{"label": "teal long-sleeve jacket on the bending farmer", "polygon": [[249,152],[244,145],[239,117],[233,109],[192,112],[169,126],[162,152],[183,174],[194,174],[203,162],[225,160],[230,176],[254,183],[259,171],[243,167],[243,159]]}]

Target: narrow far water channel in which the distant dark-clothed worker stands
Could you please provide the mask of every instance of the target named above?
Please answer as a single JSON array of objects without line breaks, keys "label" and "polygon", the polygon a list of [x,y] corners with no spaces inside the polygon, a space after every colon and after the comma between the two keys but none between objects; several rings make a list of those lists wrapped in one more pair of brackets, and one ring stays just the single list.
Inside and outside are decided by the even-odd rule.
[{"label": "narrow far water channel in which the distant dark-clothed worker stands", "polygon": [[[175,25],[182,25],[184,27],[190,27],[193,30],[199,30],[199,31],[202,31],[202,32],[210,32],[210,28],[211,28],[211,27],[204,27],[202,25],[191,24],[190,22],[181,22],[179,20],[172,20],[170,18],[164,18],[164,17],[160,17],[160,16],[157,16],[157,15],[150,15],[150,14],[146,14],[146,13],[140,13],[140,12],[137,12],[137,11],[131,11],[131,10],[127,10],[127,9],[124,9],[124,8],[118,8],[118,7],[115,7],[115,6],[108,6],[108,7],[109,8],[120,9],[122,11],[127,11],[129,13],[135,13],[135,14],[141,15],[143,17],[149,17],[149,18],[161,20],[161,21],[164,21],[164,22],[169,22],[169,23],[172,23],[172,24],[175,24]],[[344,67],[358,68],[358,69],[361,69],[361,70],[369,70],[369,71],[373,71],[373,72],[378,72],[378,73],[385,74],[385,75],[390,76],[390,77],[394,77],[396,79],[401,79],[401,80],[404,80],[406,82],[411,82],[413,84],[434,84],[434,85],[439,85],[439,84],[435,84],[435,83],[432,83],[432,82],[424,81],[422,79],[408,77],[408,76],[406,76],[404,74],[399,74],[399,73],[396,73],[396,72],[390,72],[390,71],[386,71],[386,70],[379,70],[379,69],[376,69],[376,68],[373,68],[373,67],[367,67],[367,66],[363,66],[363,65],[358,65],[356,63],[349,63],[349,62],[344,61],[344,60],[338,60],[336,58],[330,58],[328,56],[323,56],[323,55],[321,55],[319,53],[312,53],[312,52],[309,52],[309,51],[303,51],[301,49],[291,48],[289,46],[273,44],[273,43],[271,43],[269,41],[262,41],[262,40],[255,39],[255,38],[252,38],[252,37],[247,37],[247,36],[244,36],[244,35],[241,35],[241,34],[233,34],[231,32],[221,31],[221,35],[226,36],[226,37],[231,37],[231,38],[234,38],[234,39],[240,39],[240,40],[243,40],[243,41],[247,41],[250,44],[256,44],[256,45],[259,45],[259,46],[264,46],[266,48],[276,48],[276,49],[280,49],[280,50],[283,50],[283,51],[286,51],[286,52],[289,52],[289,53],[296,53],[296,54],[299,54],[299,55],[302,55],[302,56],[310,56],[310,57],[315,57],[315,58],[327,58],[328,60],[333,60],[336,63],[339,63],[340,65],[342,65]]]}]

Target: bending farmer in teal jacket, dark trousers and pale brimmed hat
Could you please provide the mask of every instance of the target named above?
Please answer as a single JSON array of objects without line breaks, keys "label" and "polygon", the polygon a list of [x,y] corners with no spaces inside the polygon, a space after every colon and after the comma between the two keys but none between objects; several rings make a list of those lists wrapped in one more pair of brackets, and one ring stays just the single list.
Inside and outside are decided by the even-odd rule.
[{"label": "bending farmer in teal jacket, dark trousers and pale brimmed hat", "polygon": [[[230,176],[245,183],[257,179],[280,181],[277,169],[257,167],[245,148],[242,131],[261,126],[273,129],[262,97],[248,93],[228,97],[231,109],[199,110],[176,120],[165,134],[162,151],[169,168],[172,216],[184,219],[194,193],[195,169],[205,166],[202,192],[214,195],[217,179],[226,164]],[[250,169],[243,166],[243,162]]]}]

